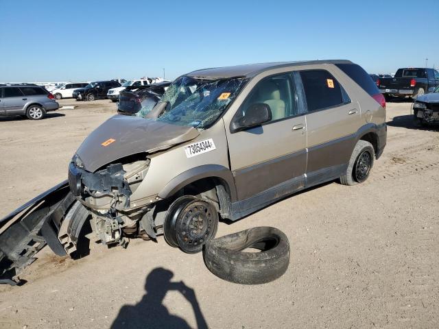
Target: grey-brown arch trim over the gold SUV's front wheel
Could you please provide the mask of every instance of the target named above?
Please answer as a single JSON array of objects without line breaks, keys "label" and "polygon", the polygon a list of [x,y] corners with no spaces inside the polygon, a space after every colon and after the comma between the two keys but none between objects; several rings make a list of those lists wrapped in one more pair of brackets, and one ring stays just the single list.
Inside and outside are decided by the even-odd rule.
[{"label": "grey-brown arch trim over the gold SUV's front wheel", "polygon": [[230,169],[219,164],[204,164],[180,173],[166,184],[163,190],[158,193],[158,197],[162,199],[170,197],[187,184],[191,184],[202,178],[219,178],[224,181],[227,184],[226,188],[228,188],[228,193],[230,193],[230,202],[236,201],[237,196],[233,173]]}]

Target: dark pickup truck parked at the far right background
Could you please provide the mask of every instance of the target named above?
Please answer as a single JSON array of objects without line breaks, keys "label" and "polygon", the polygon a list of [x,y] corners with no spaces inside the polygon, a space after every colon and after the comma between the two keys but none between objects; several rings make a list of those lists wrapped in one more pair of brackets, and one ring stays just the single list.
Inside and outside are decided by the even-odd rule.
[{"label": "dark pickup truck parked at the far right background", "polygon": [[439,73],[435,69],[398,69],[394,77],[380,77],[377,85],[384,95],[416,99],[439,86]]}]

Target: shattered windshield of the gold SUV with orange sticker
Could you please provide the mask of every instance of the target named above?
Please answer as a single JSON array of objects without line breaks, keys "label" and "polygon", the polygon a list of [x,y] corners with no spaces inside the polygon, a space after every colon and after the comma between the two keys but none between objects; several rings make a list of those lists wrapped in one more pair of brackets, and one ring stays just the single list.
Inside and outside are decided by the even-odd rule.
[{"label": "shattered windshield of the gold SUV with orange sticker", "polygon": [[204,129],[216,121],[247,81],[244,78],[180,77],[161,98],[161,102],[168,104],[157,120]]}]

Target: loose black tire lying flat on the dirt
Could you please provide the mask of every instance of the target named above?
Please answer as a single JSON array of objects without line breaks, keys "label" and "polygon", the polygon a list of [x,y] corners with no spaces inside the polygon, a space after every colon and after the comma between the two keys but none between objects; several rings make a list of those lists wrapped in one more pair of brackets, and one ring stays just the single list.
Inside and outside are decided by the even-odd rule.
[{"label": "loose black tire lying flat on the dirt", "polygon": [[[261,252],[244,252],[254,248]],[[287,271],[289,242],[276,228],[249,228],[206,243],[204,263],[215,276],[239,284],[262,284]]]}]

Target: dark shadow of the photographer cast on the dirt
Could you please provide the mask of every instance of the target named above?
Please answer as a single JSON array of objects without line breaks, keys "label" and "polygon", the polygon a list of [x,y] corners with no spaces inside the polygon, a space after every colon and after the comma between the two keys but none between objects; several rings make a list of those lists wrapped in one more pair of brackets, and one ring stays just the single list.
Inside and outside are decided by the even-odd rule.
[{"label": "dark shadow of the photographer cast on the dirt", "polygon": [[171,315],[162,304],[168,291],[179,291],[193,308],[197,328],[208,328],[193,289],[182,281],[171,282],[173,276],[174,273],[162,267],[153,269],[146,278],[142,300],[134,306],[122,306],[111,328],[191,328],[185,319]]}]

